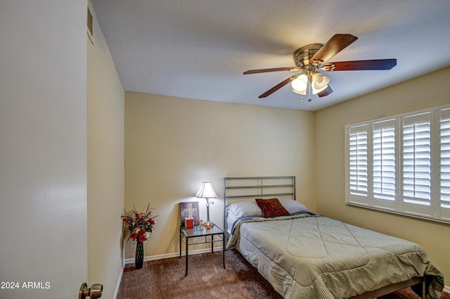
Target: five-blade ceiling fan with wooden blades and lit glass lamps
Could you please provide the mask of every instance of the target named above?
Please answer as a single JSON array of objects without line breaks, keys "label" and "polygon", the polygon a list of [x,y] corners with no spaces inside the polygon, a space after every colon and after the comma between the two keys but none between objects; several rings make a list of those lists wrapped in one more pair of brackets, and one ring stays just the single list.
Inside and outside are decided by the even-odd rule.
[{"label": "five-blade ceiling fan with wooden blades and lit glass lamps", "polygon": [[311,101],[311,94],[317,94],[319,97],[322,97],[328,96],[328,94],[333,92],[333,89],[331,89],[328,84],[328,82],[330,82],[330,77],[323,75],[319,70],[325,72],[334,72],[338,70],[390,70],[397,65],[397,59],[326,63],[330,58],[356,41],[356,39],[358,39],[358,37],[354,37],[352,34],[335,34],[324,45],[309,44],[297,49],[293,54],[295,63],[295,66],[293,67],[248,70],[244,72],[244,75],[256,74],[259,72],[278,72],[283,70],[301,71],[264,92],[259,98],[265,98],[291,82],[293,91],[302,95],[300,101],[303,101],[303,96],[306,95],[307,92],[309,94],[308,101]]}]

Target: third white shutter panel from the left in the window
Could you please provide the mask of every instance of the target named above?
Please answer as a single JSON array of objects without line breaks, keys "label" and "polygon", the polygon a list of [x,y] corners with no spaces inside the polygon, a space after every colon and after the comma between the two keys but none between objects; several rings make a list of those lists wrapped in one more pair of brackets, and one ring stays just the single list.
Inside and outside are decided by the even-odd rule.
[{"label": "third white shutter panel from the left in the window", "polygon": [[403,200],[430,205],[431,117],[423,113],[403,118]]}]

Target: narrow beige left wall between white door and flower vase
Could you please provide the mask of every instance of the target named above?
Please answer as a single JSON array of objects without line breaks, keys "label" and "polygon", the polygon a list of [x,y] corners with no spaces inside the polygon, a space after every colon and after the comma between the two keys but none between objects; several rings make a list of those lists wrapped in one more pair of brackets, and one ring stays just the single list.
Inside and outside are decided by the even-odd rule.
[{"label": "narrow beige left wall between white door and flower vase", "polygon": [[94,9],[94,44],[87,39],[87,241],[89,285],[113,298],[122,269],[124,89]]}]

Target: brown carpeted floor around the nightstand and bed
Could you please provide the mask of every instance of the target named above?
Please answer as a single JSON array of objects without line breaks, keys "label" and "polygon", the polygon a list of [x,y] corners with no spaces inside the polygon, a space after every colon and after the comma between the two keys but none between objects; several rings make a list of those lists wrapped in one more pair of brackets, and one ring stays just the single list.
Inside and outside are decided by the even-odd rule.
[{"label": "brown carpeted floor around the nightstand and bed", "polygon": [[[184,256],[145,262],[139,270],[131,265],[124,269],[117,299],[283,298],[238,251],[226,250],[225,261],[226,269],[221,251],[189,255],[188,276],[184,276]],[[409,288],[383,297],[416,298]]]}]

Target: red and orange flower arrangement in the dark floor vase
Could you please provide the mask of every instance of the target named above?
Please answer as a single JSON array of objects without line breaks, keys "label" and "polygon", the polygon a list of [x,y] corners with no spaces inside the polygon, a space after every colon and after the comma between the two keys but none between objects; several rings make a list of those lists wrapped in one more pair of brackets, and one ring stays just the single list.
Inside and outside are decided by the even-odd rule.
[{"label": "red and orange flower arrangement in the dark floor vase", "polygon": [[145,212],[137,212],[136,208],[134,208],[121,216],[124,231],[129,232],[128,240],[131,238],[132,241],[143,243],[150,238],[150,233],[156,224],[153,218],[158,217],[158,215],[152,217],[153,209],[150,209],[149,206],[147,205]]}]

